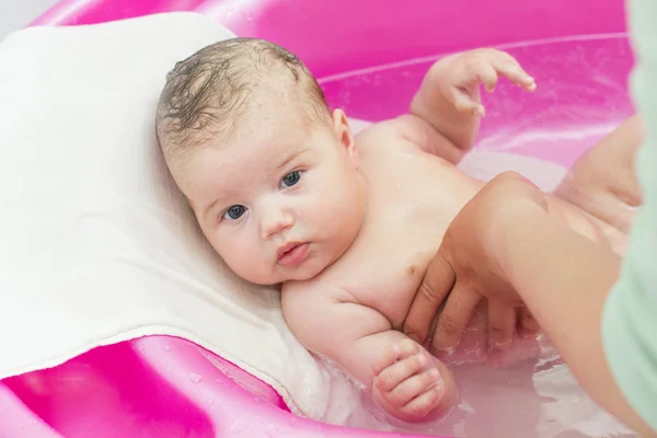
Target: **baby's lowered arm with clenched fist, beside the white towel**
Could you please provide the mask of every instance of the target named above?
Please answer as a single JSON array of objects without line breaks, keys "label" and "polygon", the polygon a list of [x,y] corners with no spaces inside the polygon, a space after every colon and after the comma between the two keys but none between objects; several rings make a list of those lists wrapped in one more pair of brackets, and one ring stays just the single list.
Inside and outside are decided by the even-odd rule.
[{"label": "baby's lowered arm with clenched fist, beside the white towel", "polygon": [[454,404],[456,387],[447,368],[417,343],[392,330],[368,307],[336,295],[286,290],[283,310],[299,342],[367,385],[373,400],[405,422],[435,419]]}]

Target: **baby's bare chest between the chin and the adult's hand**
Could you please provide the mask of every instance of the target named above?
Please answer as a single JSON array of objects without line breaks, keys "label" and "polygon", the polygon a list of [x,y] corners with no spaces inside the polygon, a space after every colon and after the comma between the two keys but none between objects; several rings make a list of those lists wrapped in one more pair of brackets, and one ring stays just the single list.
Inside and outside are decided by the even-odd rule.
[{"label": "baby's bare chest between the chin and the adult's hand", "polygon": [[366,159],[368,211],[332,277],[400,328],[425,270],[459,210],[453,170],[428,155]]}]

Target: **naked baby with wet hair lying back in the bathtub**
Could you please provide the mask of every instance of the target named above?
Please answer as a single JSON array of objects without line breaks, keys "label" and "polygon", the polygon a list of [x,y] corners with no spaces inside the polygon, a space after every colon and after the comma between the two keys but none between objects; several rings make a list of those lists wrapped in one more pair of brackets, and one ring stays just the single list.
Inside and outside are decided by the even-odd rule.
[{"label": "naked baby with wet hair lying back in the bathtub", "polygon": [[[459,209],[483,183],[456,164],[473,146],[480,84],[537,87],[495,49],[436,62],[410,113],[354,137],[303,64],[234,38],[178,62],[157,131],[200,229],[246,280],[283,284],[283,312],[311,351],[362,382],[388,413],[434,419],[454,404],[447,367],[400,328]],[[549,197],[555,220],[621,249],[624,233]]]}]

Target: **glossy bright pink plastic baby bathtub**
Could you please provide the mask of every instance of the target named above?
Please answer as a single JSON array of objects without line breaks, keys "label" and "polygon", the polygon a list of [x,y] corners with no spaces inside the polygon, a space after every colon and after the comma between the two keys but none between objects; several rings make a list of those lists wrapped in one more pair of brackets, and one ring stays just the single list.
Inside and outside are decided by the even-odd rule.
[{"label": "glossy bright pink plastic baby bathtub", "polygon": [[[502,84],[487,96],[480,147],[567,166],[632,113],[623,8],[624,0],[62,0],[33,24],[196,10],[295,50],[332,105],[368,120],[405,112],[438,56],[504,46],[539,89]],[[0,437],[399,436],[293,416],[269,387],[209,357],[182,339],[148,337],[7,379]]]}]

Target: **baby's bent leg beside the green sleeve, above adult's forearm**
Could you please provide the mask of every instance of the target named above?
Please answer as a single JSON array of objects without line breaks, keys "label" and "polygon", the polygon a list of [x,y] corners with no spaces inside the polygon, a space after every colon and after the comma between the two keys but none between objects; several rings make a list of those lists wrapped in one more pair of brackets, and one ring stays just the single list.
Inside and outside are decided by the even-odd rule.
[{"label": "baby's bent leg beside the green sleeve, above adult's forearm", "polygon": [[554,195],[627,233],[642,204],[634,171],[642,141],[642,119],[634,115],[583,154]]}]

